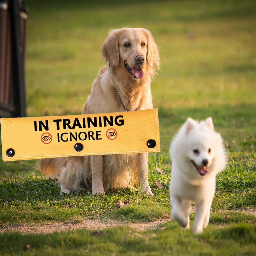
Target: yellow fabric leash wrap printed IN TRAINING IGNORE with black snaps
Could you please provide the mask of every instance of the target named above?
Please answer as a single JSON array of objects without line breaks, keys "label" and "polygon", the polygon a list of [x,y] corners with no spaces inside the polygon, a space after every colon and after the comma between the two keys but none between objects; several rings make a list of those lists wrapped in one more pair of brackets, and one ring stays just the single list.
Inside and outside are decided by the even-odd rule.
[{"label": "yellow fabric leash wrap printed IN TRAINING IGNORE with black snaps", "polygon": [[159,152],[158,109],[1,118],[4,161]]}]

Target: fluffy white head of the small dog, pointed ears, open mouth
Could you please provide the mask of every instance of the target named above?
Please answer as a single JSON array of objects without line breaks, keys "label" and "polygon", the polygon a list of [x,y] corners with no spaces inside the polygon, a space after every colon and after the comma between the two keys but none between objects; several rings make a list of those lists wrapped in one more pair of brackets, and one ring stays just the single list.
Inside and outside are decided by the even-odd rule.
[{"label": "fluffy white head of the small dog, pointed ears, open mouth", "polygon": [[[214,131],[212,118],[202,122],[188,118],[173,140],[170,148],[172,161],[189,176],[217,174],[225,167],[222,138]],[[197,170],[197,172],[194,172]]]}]

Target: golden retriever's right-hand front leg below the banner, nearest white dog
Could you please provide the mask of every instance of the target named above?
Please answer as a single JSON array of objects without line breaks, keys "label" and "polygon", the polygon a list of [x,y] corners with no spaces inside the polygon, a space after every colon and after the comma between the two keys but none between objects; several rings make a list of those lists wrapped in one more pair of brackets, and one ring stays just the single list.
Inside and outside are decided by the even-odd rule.
[{"label": "golden retriever's right-hand front leg below the banner, nearest white dog", "polygon": [[148,153],[139,153],[138,172],[140,189],[148,196],[153,196],[148,183]]}]

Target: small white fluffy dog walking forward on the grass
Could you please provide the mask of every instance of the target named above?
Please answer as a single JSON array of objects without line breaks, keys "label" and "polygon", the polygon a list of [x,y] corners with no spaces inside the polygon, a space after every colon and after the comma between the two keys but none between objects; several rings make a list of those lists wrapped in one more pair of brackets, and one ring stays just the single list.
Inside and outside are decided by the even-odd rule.
[{"label": "small white fluffy dog walking forward on the grass", "polygon": [[226,156],[212,118],[197,122],[188,118],[171,143],[170,201],[172,218],[189,228],[191,201],[196,204],[193,233],[201,233],[209,223],[216,188],[216,175],[224,169]]}]

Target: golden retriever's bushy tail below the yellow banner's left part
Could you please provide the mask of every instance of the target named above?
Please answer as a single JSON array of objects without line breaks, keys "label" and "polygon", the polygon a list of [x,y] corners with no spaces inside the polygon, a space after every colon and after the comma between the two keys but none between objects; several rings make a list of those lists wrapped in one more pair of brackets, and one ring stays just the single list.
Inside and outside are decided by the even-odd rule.
[{"label": "golden retriever's bushy tail below the yellow banner's left part", "polygon": [[46,178],[59,178],[60,171],[67,165],[67,157],[41,159],[39,170]]}]

